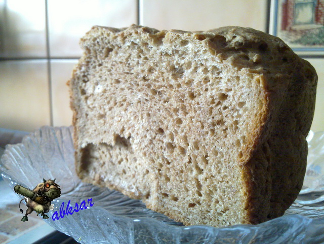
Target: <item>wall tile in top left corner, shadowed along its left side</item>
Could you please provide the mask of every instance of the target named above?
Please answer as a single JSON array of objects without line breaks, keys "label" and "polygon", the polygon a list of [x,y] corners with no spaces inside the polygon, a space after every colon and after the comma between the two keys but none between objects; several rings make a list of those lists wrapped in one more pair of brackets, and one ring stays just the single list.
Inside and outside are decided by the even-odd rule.
[{"label": "wall tile in top left corner, shadowed along its left side", "polygon": [[46,57],[44,0],[0,0],[0,57]]}]

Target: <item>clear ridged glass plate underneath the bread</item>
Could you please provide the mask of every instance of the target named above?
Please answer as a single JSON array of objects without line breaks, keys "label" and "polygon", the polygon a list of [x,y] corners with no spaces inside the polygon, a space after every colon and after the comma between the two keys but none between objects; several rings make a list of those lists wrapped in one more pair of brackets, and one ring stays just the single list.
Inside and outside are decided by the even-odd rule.
[{"label": "clear ridged glass plate underneath the bread", "polygon": [[[0,170],[12,189],[16,184],[33,189],[43,178],[56,178],[62,194],[52,201],[54,210],[45,221],[80,243],[324,243],[324,132],[310,132],[307,137],[304,186],[283,217],[224,228],[182,226],[148,210],[139,200],[80,182],[74,170],[71,133],[72,127],[39,128],[21,144],[7,146]],[[63,202],[62,210],[68,201],[74,206],[89,198],[92,207],[52,220]],[[17,198],[17,210],[18,203]]]}]

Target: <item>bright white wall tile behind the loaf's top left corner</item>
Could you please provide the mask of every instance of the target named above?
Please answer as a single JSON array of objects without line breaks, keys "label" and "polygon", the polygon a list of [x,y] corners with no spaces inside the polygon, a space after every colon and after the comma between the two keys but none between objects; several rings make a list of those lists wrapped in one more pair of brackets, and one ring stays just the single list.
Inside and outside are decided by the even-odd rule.
[{"label": "bright white wall tile behind the loaf's top left corner", "polygon": [[136,0],[50,0],[48,10],[52,57],[81,56],[79,39],[93,25],[126,27],[137,23]]}]

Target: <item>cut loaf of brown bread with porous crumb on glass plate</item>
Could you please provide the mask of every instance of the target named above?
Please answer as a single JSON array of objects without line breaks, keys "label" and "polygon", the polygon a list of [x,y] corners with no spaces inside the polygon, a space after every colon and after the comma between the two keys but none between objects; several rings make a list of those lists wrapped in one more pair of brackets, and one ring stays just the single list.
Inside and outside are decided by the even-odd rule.
[{"label": "cut loaf of brown bread with porous crumb on glass plate", "polygon": [[68,82],[77,174],[185,225],[281,216],[303,185],[314,68],[251,28],[94,26]]}]

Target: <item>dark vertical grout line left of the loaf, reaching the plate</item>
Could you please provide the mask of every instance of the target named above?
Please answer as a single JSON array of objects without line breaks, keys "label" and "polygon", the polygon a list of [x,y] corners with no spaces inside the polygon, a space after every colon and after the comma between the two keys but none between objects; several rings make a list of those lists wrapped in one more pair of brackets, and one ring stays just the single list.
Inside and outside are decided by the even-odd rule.
[{"label": "dark vertical grout line left of the loaf, reaching the plate", "polygon": [[49,84],[49,99],[50,99],[50,125],[53,123],[53,96],[52,96],[52,73],[51,73],[51,50],[50,50],[50,33],[49,33],[49,9],[48,0],[45,1],[45,28],[46,28],[46,54],[47,54],[47,74]]}]

